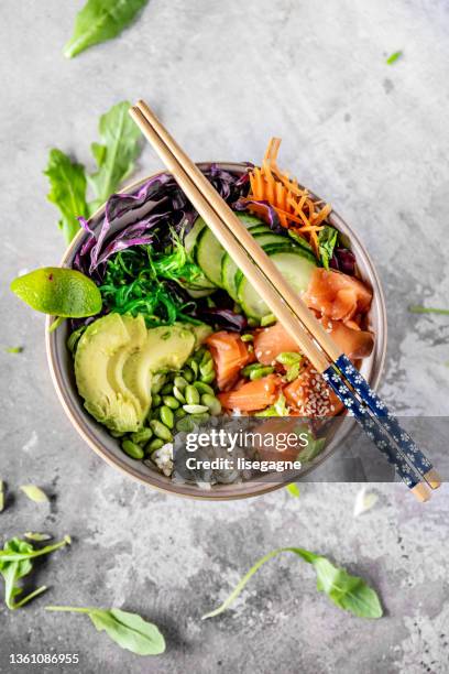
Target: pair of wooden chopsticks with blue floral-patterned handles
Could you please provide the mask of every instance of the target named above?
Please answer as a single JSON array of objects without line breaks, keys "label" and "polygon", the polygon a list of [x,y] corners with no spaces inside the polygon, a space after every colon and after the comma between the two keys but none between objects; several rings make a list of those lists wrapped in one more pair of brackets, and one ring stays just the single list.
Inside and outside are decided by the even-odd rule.
[{"label": "pair of wooden chopsticks with blue floral-patterned handles", "polygon": [[440,486],[440,478],[431,463],[371,390],[352,362],[341,354],[322,325],[149,106],[139,101],[130,109],[130,115],[187,198],[225,250],[258,289],[300,351],[394,466],[405,485],[418,500],[426,501],[430,496],[427,486],[431,489]]}]

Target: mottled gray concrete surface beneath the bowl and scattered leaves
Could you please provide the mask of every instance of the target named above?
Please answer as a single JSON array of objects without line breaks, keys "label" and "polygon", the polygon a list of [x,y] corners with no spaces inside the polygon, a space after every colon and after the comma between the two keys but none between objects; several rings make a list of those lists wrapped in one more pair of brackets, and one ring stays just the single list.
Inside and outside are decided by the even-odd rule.
[{"label": "mottled gray concrete surface beneath the bowl and scattered leaves", "polygon": [[[272,133],[282,164],[357,228],[384,282],[390,317],[382,392],[407,414],[448,412],[449,132],[445,0],[151,0],[119,40],[73,62],[61,48],[83,2],[2,0],[1,470],[14,498],[2,537],[70,533],[40,567],[47,595],[0,608],[0,671],[384,674],[448,672],[448,489],[421,507],[401,486],[352,518],[357,485],[305,485],[253,501],[201,503],[152,492],[84,446],[64,416],[45,361],[44,320],[8,293],[20,270],[58,261],[64,243],[46,203],[51,146],[91,163],[98,116],[125,97],[152,101],[197,160],[259,160]],[[387,54],[402,48],[394,66]],[[150,149],[142,174],[158,166]],[[19,496],[45,487],[50,507]],[[352,618],[317,594],[310,569],[272,562],[236,610],[200,616],[251,563],[293,544],[371,580],[386,615]],[[139,659],[83,616],[46,604],[116,605],[156,621],[167,652]],[[12,667],[10,653],[79,653],[80,664]]]}]

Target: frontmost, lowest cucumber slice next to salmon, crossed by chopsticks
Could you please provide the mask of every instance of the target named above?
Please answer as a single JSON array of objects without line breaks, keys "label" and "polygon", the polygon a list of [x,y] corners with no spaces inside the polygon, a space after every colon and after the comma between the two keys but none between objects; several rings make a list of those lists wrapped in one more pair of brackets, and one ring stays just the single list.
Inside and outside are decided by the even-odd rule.
[{"label": "frontmost, lowest cucumber slice next to salmon, crossed by chopsticks", "polygon": [[[292,287],[298,294],[303,293],[309,284],[313,271],[317,265],[316,262],[309,256],[304,254],[305,251],[299,248],[266,252]],[[236,285],[238,302],[247,316],[260,319],[271,313],[270,307],[241,271],[236,274]]]}]

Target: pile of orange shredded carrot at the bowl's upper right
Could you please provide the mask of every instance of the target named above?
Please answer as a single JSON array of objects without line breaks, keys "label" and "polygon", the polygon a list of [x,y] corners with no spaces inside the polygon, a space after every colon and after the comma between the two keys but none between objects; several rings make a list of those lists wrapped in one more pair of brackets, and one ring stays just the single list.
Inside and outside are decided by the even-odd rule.
[{"label": "pile of orange shredded carrot at the bowl's upper right", "polygon": [[[269,202],[275,209],[280,222],[294,230],[318,252],[318,235],[331,211],[330,204],[322,199],[314,202],[309,192],[295,178],[277,166],[281,139],[272,138],[266,148],[262,166],[250,172],[250,194],[248,200]],[[263,209],[255,204],[249,206],[252,213],[262,215]]]}]

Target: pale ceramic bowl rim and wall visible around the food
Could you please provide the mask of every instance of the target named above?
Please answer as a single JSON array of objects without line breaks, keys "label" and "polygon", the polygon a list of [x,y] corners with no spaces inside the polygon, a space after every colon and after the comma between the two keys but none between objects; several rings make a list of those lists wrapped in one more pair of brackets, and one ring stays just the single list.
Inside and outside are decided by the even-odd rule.
[{"label": "pale ceramic bowl rim and wall visible around the food", "polygon": [[[207,168],[209,165],[210,164],[199,164],[199,167]],[[219,165],[225,170],[231,170],[233,172],[242,172],[244,170],[242,164],[219,162]],[[135,192],[149,180],[149,177],[130,185],[123,189],[123,192]],[[146,206],[145,209],[149,210],[149,206]],[[105,207],[101,207],[91,217],[89,224],[94,230],[99,227],[103,213]],[[132,217],[133,219],[135,218],[135,213]],[[128,216],[127,219],[125,214],[118,220],[113,231],[118,231],[129,221],[130,217]],[[375,334],[375,346],[370,358],[363,360],[361,372],[368,379],[371,387],[375,389],[381,378],[386,350],[385,302],[380,280],[364,247],[349,225],[347,225],[336,211],[332,211],[330,222],[351,241],[351,249],[355,254],[359,275],[362,280],[366,281],[373,290],[373,302],[369,314],[369,327]],[[61,262],[62,267],[72,267],[74,257],[85,242],[86,236],[85,231],[80,231],[72,241]],[[47,324],[48,323],[50,319]],[[156,469],[153,470],[142,461],[136,461],[128,457],[121,450],[118,441],[111,437],[108,431],[98,424],[84,409],[83,400],[79,398],[76,389],[73,359],[66,347],[67,336],[68,326],[66,324],[59,326],[54,333],[46,331],[46,350],[53,383],[64,411],[81,439],[110,466],[113,466],[123,474],[149,487],[178,496],[198,499],[220,500],[248,498],[278,489],[283,486],[270,481],[270,476],[267,476],[267,480],[258,478],[256,481],[249,480],[234,485],[217,485],[209,490],[205,490],[196,485],[176,483],[172,481],[171,478],[161,475]],[[339,446],[341,446],[349,432],[350,424],[346,423],[340,426],[321,454],[305,468],[304,472],[310,472],[316,466],[325,461]]]}]

